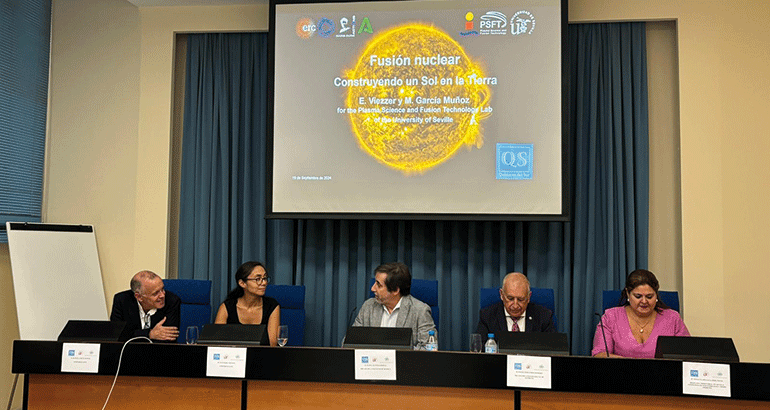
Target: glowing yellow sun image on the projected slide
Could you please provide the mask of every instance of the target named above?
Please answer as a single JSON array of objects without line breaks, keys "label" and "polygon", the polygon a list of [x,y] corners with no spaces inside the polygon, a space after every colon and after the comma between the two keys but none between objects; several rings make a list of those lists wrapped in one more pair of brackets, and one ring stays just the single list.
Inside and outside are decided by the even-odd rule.
[{"label": "glowing yellow sun image on the projected slide", "polygon": [[461,147],[481,148],[489,82],[442,30],[420,23],[387,29],[369,41],[344,76],[395,80],[350,87],[346,99],[354,108],[349,118],[361,148],[382,164],[419,174]]}]

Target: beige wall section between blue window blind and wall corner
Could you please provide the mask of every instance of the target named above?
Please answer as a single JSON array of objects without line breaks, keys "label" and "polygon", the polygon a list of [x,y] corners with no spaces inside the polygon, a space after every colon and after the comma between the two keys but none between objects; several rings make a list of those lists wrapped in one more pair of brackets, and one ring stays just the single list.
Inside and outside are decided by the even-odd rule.
[{"label": "beige wall section between blue window blind and wall corner", "polygon": [[139,12],[125,1],[58,0],[52,24],[43,220],[94,225],[111,294],[140,263]]}]

